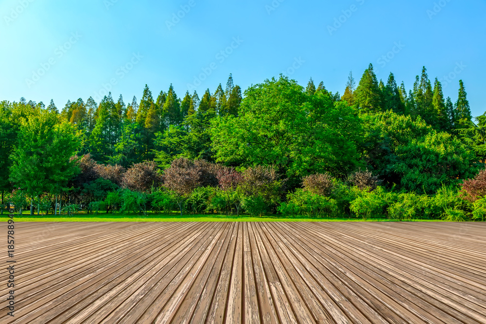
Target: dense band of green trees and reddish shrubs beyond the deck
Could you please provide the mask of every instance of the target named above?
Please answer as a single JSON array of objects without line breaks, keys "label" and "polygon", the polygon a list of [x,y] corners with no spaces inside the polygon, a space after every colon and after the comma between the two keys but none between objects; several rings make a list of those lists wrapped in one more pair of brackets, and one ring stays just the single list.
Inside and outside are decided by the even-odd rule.
[{"label": "dense band of green trees and reddish shrubs beyond the deck", "polygon": [[21,98],[0,102],[2,212],[484,220],[485,136],[463,81],[444,98],[425,67],[408,92],[370,64],[343,96],[282,75],[242,94],[230,75],[201,98]]}]

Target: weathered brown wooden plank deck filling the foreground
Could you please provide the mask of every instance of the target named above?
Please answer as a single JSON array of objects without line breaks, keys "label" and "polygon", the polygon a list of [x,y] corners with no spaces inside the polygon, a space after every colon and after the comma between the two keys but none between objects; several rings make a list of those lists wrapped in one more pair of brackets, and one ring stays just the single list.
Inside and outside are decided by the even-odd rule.
[{"label": "weathered brown wooden plank deck filling the foreground", "polygon": [[15,241],[0,323],[486,323],[485,223],[20,223]]}]

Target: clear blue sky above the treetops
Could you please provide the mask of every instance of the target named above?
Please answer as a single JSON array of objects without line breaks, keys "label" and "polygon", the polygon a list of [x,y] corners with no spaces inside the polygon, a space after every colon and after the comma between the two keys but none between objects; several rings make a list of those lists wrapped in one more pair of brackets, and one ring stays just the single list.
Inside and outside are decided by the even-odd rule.
[{"label": "clear blue sky above the treetops", "polygon": [[[432,80],[450,74],[442,81],[454,102],[462,79],[473,116],[486,111],[486,0],[280,1],[3,0],[0,100],[62,108],[106,87],[131,102],[145,84],[156,97],[171,83],[180,97],[205,73],[201,96],[229,73],[244,90],[283,71],[342,94],[349,71],[358,82],[372,63],[407,91],[424,65]],[[181,6],[188,12],[173,20]]]}]

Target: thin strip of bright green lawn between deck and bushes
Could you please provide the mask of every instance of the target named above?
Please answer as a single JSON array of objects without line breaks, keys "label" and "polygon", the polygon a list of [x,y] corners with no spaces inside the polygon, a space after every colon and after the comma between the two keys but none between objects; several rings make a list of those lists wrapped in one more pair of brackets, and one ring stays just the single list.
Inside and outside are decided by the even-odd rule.
[{"label": "thin strip of bright green lawn between deck and bushes", "polygon": [[[0,222],[6,222],[7,215],[3,214],[0,217]],[[73,216],[68,215],[18,215],[14,216],[16,222],[363,222],[362,219],[357,218],[303,218],[301,216],[284,217],[281,215],[266,215],[263,217],[251,216],[226,216],[226,215],[160,215],[149,214],[148,216],[135,214],[83,214],[78,213]],[[371,218],[366,222],[394,222],[384,218]],[[417,220],[417,222],[440,222],[440,221],[426,221]]]}]

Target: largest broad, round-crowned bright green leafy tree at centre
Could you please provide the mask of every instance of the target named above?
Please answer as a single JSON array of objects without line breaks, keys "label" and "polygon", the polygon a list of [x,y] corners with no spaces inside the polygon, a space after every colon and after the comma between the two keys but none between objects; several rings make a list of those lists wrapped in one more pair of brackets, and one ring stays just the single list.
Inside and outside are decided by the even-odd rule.
[{"label": "largest broad, round-crowned bright green leafy tree at centre", "polygon": [[216,158],[228,164],[275,165],[288,176],[312,171],[347,173],[357,164],[360,130],[352,108],[317,92],[305,94],[280,76],[245,91],[238,117],[214,120]]}]

